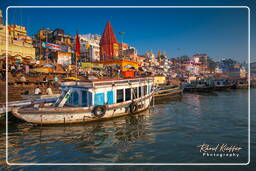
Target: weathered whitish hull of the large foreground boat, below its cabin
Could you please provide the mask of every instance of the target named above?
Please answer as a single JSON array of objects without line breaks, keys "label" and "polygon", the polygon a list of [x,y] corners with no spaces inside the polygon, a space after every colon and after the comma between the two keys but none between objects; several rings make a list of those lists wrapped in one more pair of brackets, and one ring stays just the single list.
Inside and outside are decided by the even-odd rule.
[{"label": "weathered whitish hull of the large foreground boat, below its cabin", "polygon": [[[152,94],[143,99],[135,100],[138,105],[136,113],[146,110],[152,100]],[[129,105],[131,102],[123,102],[121,104],[107,105],[106,113],[102,117],[94,116],[93,107],[64,107],[64,108],[39,108],[38,110],[22,111],[14,109],[12,114],[19,119],[33,124],[67,124],[97,121],[102,119],[110,119],[124,115],[133,114],[130,111]]]}]

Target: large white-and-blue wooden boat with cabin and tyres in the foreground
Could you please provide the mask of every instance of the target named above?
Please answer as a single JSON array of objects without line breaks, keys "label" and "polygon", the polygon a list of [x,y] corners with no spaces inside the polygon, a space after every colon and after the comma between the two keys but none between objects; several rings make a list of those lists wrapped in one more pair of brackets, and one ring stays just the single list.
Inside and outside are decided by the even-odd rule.
[{"label": "large white-and-blue wooden boat with cabin and tyres in the foreground", "polygon": [[146,110],[153,96],[153,78],[67,81],[52,105],[14,109],[13,115],[34,124],[96,121]]}]

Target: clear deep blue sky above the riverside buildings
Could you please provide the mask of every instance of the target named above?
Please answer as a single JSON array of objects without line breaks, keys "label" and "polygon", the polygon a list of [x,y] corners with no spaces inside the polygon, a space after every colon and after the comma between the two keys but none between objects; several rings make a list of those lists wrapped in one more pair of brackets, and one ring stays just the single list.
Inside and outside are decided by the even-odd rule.
[{"label": "clear deep blue sky above the riverside buildings", "polygon": [[[52,3],[32,1],[5,1],[4,9],[9,5],[198,5],[201,1],[179,1],[183,4],[170,4],[175,1],[139,1],[134,3],[87,2]],[[144,2],[144,3],[143,3]],[[148,4],[150,2],[150,4]],[[166,4],[163,4],[166,2]],[[208,4],[205,2],[208,2]],[[204,1],[200,5],[250,5],[234,4],[232,1]],[[222,1],[223,3],[223,1]],[[253,9],[254,10],[254,9]],[[252,12],[252,18],[255,11]],[[125,32],[124,42],[135,46],[140,54],[147,50],[166,50],[170,57],[207,53],[214,59],[232,58],[238,61],[247,61],[248,57],[248,10],[246,8],[234,9],[10,9],[9,24],[27,26],[30,35],[40,28],[62,28],[65,33],[74,35],[79,33],[102,34],[106,21],[110,20],[116,37],[120,41],[118,32]],[[253,20],[253,19],[251,19]],[[251,23],[254,26],[254,22]],[[251,28],[251,30],[253,30]],[[252,37],[252,47],[255,40]],[[252,61],[255,61],[255,49],[252,48]]]}]

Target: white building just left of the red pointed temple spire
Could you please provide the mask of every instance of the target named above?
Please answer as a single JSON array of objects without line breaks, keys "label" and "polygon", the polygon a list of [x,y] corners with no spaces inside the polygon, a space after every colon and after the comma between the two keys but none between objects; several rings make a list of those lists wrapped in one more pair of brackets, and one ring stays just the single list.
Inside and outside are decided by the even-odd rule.
[{"label": "white building just left of the red pointed temple spire", "polygon": [[84,34],[80,37],[81,62],[100,60],[100,39],[98,34]]}]

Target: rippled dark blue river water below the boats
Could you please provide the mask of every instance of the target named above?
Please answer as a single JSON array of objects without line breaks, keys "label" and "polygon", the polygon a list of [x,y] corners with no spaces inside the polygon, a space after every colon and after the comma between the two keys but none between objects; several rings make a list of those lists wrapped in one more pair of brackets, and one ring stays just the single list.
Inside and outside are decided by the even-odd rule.
[{"label": "rippled dark blue river water below the boats", "polygon": [[[251,96],[256,97],[256,89]],[[253,115],[255,101],[251,106]],[[2,126],[3,143],[4,131]],[[143,113],[101,122],[43,127],[11,123],[8,132],[10,163],[247,163],[248,90],[185,93],[160,99]],[[219,156],[207,156],[200,152],[202,144],[241,149],[233,152],[236,156],[218,150],[208,154]]]}]

